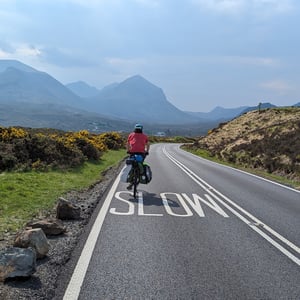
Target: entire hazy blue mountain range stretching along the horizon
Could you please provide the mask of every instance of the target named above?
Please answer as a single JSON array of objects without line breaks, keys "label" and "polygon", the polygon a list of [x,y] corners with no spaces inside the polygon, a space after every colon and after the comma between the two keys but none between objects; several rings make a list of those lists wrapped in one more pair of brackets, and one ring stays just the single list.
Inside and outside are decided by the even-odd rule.
[{"label": "entire hazy blue mountain range stretching along the horizon", "polygon": [[[74,86],[81,86],[81,90]],[[24,122],[21,123],[25,123],[26,126],[30,126],[30,121],[35,124],[34,126],[37,126],[39,121],[41,125],[44,124],[37,118],[38,115],[43,114],[48,115],[48,126],[51,124],[53,127],[57,126],[55,113],[60,110],[69,120],[70,113],[75,116],[80,111],[81,115],[86,115],[84,119],[90,118],[92,114],[91,123],[95,118],[101,120],[100,123],[105,122],[104,119],[108,123],[113,120],[127,122],[127,124],[141,122],[157,128],[167,125],[172,128],[177,126],[179,129],[193,128],[193,132],[203,134],[204,128],[206,130],[208,126],[215,126],[218,122],[235,118],[246,110],[258,109],[258,107],[248,106],[227,109],[219,106],[209,113],[185,112],[169,102],[160,87],[141,75],[134,75],[120,83],[112,83],[98,90],[83,81],[75,82],[73,85],[72,83],[63,85],[48,73],[38,71],[16,60],[0,60],[0,87],[1,113],[5,119],[2,125],[5,126],[9,125],[9,122],[15,124],[18,118],[22,118],[20,113],[14,115],[5,109],[14,110],[18,106],[28,105],[36,115],[31,114],[30,118],[24,115],[26,122],[23,120]],[[80,93],[81,96],[78,95]],[[300,103],[295,105],[300,106]],[[28,110],[26,111],[30,114]],[[5,114],[10,115],[12,119],[5,118]],[[35,118],[37,119],[34,120]],[[74,117],[69,122],[69,130],[72,130],[72,127],[77,128],[77,125]],[[200,129],[197,130],[197,126]],[[188,131],[186,129],[186,132]]]}]

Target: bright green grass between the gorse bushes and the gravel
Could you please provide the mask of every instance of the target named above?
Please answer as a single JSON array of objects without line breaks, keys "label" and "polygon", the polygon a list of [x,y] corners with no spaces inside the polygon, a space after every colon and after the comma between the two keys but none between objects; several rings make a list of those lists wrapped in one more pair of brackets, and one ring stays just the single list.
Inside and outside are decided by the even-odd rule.
[{"label": "bright green grass between the gorse bushes and the gravel", "polygon": [[53,209],[58,197],[99,181],[101,173],[125,155],[125,150],[108,151],[100,161],[87,162],[72,171],[0,174],[0,237],[22,228],[41,212]]}]

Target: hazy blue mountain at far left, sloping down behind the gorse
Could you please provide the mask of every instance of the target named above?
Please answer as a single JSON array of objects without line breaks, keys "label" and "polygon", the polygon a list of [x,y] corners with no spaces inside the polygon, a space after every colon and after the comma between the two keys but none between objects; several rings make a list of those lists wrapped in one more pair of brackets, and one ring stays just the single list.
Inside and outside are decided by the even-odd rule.
[{"label": "hazy blue mountain at far left, sloping down behind the gorse", "polygon": [[130,130],[128,122],[87,112],[84,100],[47,73],[15,60],[0,60],[0,126],[63,130]]}]

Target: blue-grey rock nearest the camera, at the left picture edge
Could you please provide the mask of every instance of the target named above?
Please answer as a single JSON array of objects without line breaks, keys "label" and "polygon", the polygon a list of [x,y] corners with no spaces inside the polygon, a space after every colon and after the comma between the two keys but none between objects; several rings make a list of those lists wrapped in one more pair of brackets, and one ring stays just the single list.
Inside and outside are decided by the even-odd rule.
[{"label": "blue-grey rock nearest the camera, at the left picture edge", "polygon": [[32,248],[8,248],[0,251],[0,281],[29,277],[36,271],[36,252]]}]

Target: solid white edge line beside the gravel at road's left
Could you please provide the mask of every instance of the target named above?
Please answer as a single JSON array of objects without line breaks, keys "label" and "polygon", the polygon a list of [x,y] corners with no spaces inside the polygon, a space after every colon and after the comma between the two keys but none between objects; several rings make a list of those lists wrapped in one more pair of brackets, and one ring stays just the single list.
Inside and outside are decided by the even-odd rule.
[{"label": "solid white edge line beside the gravel at road's left", "polygon": [[120,182],[120,177],[121,177],[122,171],[119,173],[118,177],[116,178],[115,182],[113,183],[109,193],[107,194],[107,196],[104,200],[104,203],[103,203],[101,210],[95,220],[95,223],[93,224],[93,227],[90,231],[88,239],[86,240],[84,248],[82,249],[81,255],[78,259],[78,262],[77,262],[77,265],[73,272],[73,275],[71,277],[71,280],[65,291],[63,300],[76,300],[79,297],[81,286],[82,286],[85,274],[87,272],[89,262],[91,260],[91,257],[92,257],[99,233],[101,231],[105,216],[106,216],[108,208],[110,206],[111,200],[112,200],[113,195],[115,194],[117,186]]}]

